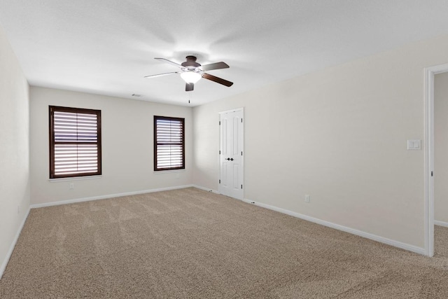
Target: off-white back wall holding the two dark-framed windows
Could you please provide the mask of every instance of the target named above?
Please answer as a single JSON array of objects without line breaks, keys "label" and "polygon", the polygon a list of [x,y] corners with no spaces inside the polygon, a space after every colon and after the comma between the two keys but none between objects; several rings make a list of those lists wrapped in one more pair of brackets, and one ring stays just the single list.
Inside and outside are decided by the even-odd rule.
[{"label": "off-white back wall holding the two dark-framed windows", "polygon": [[[192,183],[193,131],[190,107],[38,87],[31,87],[30,99],[31,204],[171,188]],[[49,105],[102,111],[100,179],[48,179]],[[185,171],[153,171],[154,115],[185,118]],[[74,183],[75,188],[69,189],[69,183]]]}]

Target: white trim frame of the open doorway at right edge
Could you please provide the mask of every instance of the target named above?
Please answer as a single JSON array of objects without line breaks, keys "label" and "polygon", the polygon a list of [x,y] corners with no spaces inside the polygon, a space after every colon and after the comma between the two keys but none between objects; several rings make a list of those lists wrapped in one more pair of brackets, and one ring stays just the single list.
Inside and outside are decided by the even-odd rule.
[{"label": "white trim frame of the open doorway at right edge", "polygon": [[424,69],[425,102],[425,255],[434,256],[434,76],[448,71],[448,64]]}]

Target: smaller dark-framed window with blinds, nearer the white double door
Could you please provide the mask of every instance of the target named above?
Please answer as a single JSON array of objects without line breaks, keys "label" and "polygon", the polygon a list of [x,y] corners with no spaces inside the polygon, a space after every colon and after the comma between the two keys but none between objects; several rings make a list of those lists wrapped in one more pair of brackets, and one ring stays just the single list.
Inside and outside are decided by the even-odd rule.
[{"label": "smaller dark-framed window with blinds, nearer the white double door", "polygon": [[154,170],[185,169],[184,118],[154,116]]}]

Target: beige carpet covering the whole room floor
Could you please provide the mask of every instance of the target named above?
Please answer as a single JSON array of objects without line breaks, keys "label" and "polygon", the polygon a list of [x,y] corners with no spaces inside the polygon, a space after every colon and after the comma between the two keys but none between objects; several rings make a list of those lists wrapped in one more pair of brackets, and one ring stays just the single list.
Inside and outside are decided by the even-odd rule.
[{"label": "beige carpet covering the whole room floor", "polygon": [[436,228],[426,258],[196,188],[32,209],[0,298],[448,298]]}]

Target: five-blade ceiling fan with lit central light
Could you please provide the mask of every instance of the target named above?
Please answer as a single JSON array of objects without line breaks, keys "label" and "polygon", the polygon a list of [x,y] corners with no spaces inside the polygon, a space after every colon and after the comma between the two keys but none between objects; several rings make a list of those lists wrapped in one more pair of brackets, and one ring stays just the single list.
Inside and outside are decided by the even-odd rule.
[{"label": "five-blade ceiling fan with lit central light", "polygon": [[186,62],[182,62],[181,64],[177,64],[176,62],[172,62],[170,60],[166,60],[165,58],[154,58],[160,62],[167,62],[169,64],[174,65],[174,67],[179,67],[181,71],[172,71],[171,73],[163,73],[157,75],[149,75],[144,78],[155,78],[159,76],[167,76],[172,74],[180,74],[184,81],[186,81],[185,91],[192,91],[195,88],[195,83],[200,80],[200,78],[204,78],[210,81],[214,81],[216,83],[225,85],[230,87],[233,85],[233,82],[224,80],[223,78],[218,78],[216,76],[212,76],[210,74],[205,73],[205,71],[211,71],[213,69],[228,69],[229,66],[225,62],[216,62],[211,64],[201,65],[196,62],[196,56],[188,55],[186,57]]}]

